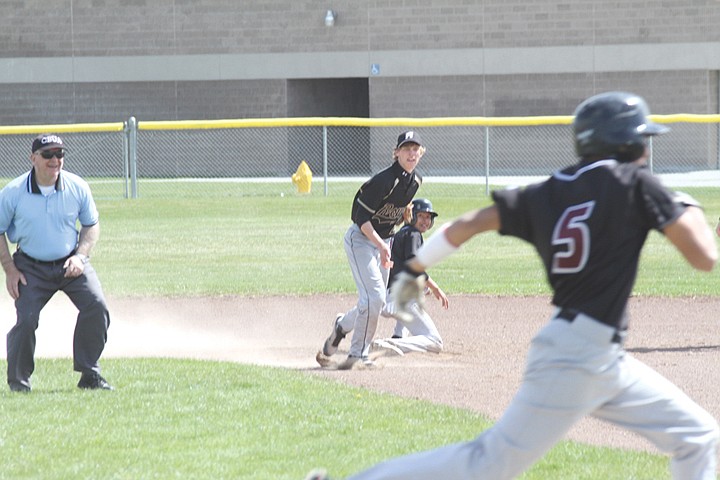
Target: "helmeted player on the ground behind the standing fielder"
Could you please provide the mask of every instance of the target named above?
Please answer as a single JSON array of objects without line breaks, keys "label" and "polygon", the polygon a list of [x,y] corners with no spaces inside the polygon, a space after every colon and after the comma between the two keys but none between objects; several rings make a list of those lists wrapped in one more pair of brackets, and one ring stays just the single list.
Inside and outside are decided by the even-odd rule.
[{"label": "helmeted player on the ground behind the standing fielder", "polygon": [[[393,236],[391,242],[393,266],[390,269],[388,287],[392,287],[395,276],[403,270],[407,261],[413,258],[417,250],[422,246],[423,233],[433,227],[437,216],[438,214],[433,210],[430,200],[416,198],[412,201],[410,222]],[[448,308],[447,295],[430,277],[427,278],[425,293],[432,293],[440,301],[443,308]],[[397,320],[393,336],[373,340],[373,348],[386,349],[399,355],[408,352],[440,353],[443,348],[442,338],[430,315],[417,302],[408,305],[408,310],[411,313],[409,321]],[[391,317],[394,313],[393,302],[388,302],[382,315]]]}]

